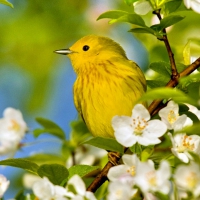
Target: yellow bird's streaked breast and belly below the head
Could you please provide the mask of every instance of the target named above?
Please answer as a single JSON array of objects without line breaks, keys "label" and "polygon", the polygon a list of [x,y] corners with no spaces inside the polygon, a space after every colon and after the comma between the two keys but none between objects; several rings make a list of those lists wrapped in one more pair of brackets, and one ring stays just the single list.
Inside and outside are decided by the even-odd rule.
[{"label": "yellow bird's streaked breast and belly below the head", "polygon": [[94,136],[113,137],[112,118],[130,116],[142,89],[137,88],[131,76],[112,73],[104,64],[98,67],[101,70],[93,67],[78,75],[74,84],[74,102]]}]

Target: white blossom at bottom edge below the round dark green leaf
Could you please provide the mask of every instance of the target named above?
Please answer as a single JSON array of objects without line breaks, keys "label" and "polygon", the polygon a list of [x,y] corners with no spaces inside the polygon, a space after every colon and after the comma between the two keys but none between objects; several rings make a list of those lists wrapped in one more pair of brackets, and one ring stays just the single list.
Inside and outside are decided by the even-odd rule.
[{"label": "white blossom at bottom edge below the round dark green leaf", "polygon": [[53,185],[48,178],[36,181],[33,185],[33,193],[39,200],[66,200],[67,191],[65,188]]}]

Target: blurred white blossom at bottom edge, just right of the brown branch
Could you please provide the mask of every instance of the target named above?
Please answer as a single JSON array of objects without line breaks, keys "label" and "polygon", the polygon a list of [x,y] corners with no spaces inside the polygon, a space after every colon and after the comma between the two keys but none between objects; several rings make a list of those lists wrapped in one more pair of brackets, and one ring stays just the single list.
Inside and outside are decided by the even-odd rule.
[{"label": "blurred white blossom at bottom edge, just right of the brown branch", "polygon": [[107,200],[131,200],[136,192],[137,189],[133,189],[128,183],[111,182],[108,185]]}]

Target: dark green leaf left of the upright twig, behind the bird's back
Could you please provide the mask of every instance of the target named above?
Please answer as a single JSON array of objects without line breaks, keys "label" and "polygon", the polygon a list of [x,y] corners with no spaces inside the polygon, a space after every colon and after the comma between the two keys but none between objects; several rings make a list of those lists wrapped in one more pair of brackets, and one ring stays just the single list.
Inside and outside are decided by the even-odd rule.
[{"label": "dark green leaf left of the upright twig, behind the bird's back", "polygon": [[168,78],[171,78],[171,67],[169,63],[166,62],[153,62],[149,65],[149,68],[153,71],[157,72],[158,74],[162,76],[166,76]]}]

